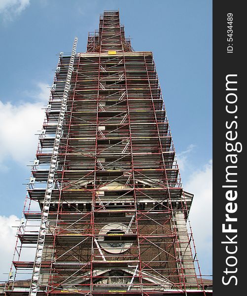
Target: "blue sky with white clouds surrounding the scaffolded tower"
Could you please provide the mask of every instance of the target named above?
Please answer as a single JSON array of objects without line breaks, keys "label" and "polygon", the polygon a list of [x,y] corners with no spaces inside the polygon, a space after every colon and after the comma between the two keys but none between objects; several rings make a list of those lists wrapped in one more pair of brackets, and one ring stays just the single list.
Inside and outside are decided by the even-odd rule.
[{"label": "blue sky with white clouds surrounding the scaffolded tower", "polygon": [[[20,217],[58,53],[86,50],[99,14],[119,9],[136,51],[152,51],[168,112],[203,274],[212,274],[212,1],[1,0],[0,238],[9,244]],[[41,111],[40,111],[41,110]],[[3,258],[2,257],[2,258]],[[6,277],[6,276],[5,276]],[[0,280],[2,279],[0,274]]]}]

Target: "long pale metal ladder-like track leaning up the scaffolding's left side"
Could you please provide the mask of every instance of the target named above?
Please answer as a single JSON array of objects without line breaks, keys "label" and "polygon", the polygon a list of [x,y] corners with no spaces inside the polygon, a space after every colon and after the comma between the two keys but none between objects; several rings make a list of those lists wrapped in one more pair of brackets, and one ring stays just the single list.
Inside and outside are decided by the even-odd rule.
[{"label": "long pale metal ladder-like track leaning up the scaffolding's left side", "polygon": [[73,42],[72,52],[71,52],[69,70],[68,70],[66,83],[65,83],[61,111],[60,111],[59,119],[58,119],[58,127],[57,127],[56,136],[55,136],[55,143],[54,143],[52,157],[51,157],[51,165],[50,165],[47,187],[46,187],[46,192],[45,192],[45,197],[44,197],[44,205],[43,205],[42,215],[41,215],[41,224],[40,224],[40,229],[39,229],[39,234],[38,234],[37,248],[36,248],[35,262],[34,262],[34,270],[33,270],[33,275],[32,275],[32,279],[31,279],[29,296],[36,296],[37,292],[38,292],[38,280],[39,280],[39,275],[40,275],[40,267],[41,267],[41,259],[42,259],[42,253],[43,253],[43,248],[44,248],[45,234],[46,234],[46,230],[47,230],[48,213],[49,213],[49,207],[50,207],[50,202],[51,202],[51,193],[52,193],[52,189],[54,188],[54,176],[55,176],[55,171],[56,171],[57,157],[58,157],[60,139],[61,139],[61,135],[62,135],[62,127],[63,127],[63,121],[64,121],[64,116],[65,116],[65,111],[66,111],[67,99],[69,96],[71,75],[72,75],[72,71],[73,71],[73,64],[74,64],[74,58],[75,58],[75,54],[76,54],[77,41],[78,41],[78,38],[75,37],[74,42]]}]

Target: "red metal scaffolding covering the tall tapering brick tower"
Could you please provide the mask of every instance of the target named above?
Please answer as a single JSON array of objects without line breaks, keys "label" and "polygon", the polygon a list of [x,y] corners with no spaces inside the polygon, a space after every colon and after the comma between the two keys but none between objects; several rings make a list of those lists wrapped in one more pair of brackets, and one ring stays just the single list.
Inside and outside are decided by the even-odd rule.
[{"label": "red metal scaffolding covering the tall tapering brick tower", "polygon": [[211,295],[152,53],[133,50],[118,11],[86,53],[76,43],[59,56],[5,294]]}]

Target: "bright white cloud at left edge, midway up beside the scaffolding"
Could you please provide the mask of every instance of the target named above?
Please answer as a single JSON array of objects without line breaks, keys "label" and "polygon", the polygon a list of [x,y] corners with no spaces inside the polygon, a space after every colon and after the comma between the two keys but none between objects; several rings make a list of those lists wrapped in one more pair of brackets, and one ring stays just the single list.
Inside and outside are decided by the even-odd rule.
[{"label": "bright white cloud at left edge, midway up beside the scaffolding", "polygon": [[37,148],[37,130],[41,130],[44,120],[44,105],[49,98],[48,85],[39,83],[39,91],[30,93],[36,98],[34,103],[2,103],[0,101],[0,167],[7,167],[7,159],[11,158],[20,164],[27,164],[35,158]]}]

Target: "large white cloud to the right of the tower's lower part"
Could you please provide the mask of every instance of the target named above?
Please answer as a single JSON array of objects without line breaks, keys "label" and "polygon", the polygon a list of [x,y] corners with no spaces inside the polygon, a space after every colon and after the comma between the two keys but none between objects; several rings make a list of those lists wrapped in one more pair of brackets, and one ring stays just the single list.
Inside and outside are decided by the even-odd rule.
[{"label": "large white cloud to the right of the tower's lower part", "polygon": [[208,264],[204,269],[212,270],[212,160],[189,176],[184,189],[194,194],[189,217],[199,262],[202,259]]}]

